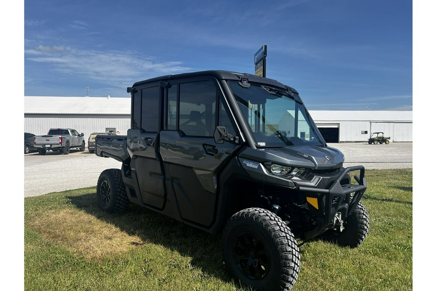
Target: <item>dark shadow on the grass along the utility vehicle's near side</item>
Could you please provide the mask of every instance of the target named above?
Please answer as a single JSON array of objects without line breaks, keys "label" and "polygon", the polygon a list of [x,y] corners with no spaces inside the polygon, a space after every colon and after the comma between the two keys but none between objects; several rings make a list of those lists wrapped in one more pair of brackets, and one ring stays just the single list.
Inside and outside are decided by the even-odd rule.
[{"label": "dark shadow on the grass along the utility vehicle's near side", "polygon": [[78,209],[101,221],[114,225],[129,235],[138,236],[144,242],[159,244],[182,256],[191,257],[191,265],[200,268],[202,272],[223,282],[232,282],[222,263],[219,234],[209,234],[133,203],[129,204],[123,214],[106,213],[98,207],[96,193],[67,198]]}]

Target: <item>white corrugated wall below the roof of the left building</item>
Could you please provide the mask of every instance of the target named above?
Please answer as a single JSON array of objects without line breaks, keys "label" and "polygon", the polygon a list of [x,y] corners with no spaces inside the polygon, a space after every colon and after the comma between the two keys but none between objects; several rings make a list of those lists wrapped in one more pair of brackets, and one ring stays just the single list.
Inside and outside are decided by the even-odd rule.
[{"label": "white corrugated wall below the roof of the left building", "polygon": [[130,127],[130,115],[24,114],[24,132],[36,135],[47,134],[51,128],[70,128],[83,132],[88,140],[91,133],[104,132],[106,128],[115,128],[120,135],[126,135]]}]

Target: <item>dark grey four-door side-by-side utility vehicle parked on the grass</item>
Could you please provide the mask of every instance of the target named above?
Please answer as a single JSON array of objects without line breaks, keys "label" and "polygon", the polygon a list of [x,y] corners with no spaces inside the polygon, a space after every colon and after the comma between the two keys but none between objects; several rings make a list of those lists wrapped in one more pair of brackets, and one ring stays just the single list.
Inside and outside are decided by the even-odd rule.
[{"label": "dark grey four-door side-by-side utility vehicle parked on the grass", "polygon": [[99,177],[102,210],[120,213],[133,202],[222,232],[228,272],[257,290],[292,288],[297,241],[356,247],[365,240],[364,167],[342,167],[343,154],[326,145],[295,89],[203,71],[127,91],[127,135],[96,137],[96,155],[121,162]]}]

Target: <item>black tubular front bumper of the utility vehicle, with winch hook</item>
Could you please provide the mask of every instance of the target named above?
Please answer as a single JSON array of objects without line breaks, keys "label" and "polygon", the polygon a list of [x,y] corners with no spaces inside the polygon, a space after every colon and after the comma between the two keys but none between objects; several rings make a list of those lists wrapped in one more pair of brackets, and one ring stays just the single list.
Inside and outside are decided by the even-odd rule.
[{"label": "black tubular front bumper of the utility vehicle, with winch hook", "polygon": [[[351,171],[360,171],[354,176],[358,184],[341,185],[340,181]],[[352,213],[367,189],[364,166],[345,168],[329,189],[299,186],[299,192],[306,196],[310,213],[316,217],[316,227],[304,234],[305,239],[313,238],[333,228],[336,213],[346,219]]]}]

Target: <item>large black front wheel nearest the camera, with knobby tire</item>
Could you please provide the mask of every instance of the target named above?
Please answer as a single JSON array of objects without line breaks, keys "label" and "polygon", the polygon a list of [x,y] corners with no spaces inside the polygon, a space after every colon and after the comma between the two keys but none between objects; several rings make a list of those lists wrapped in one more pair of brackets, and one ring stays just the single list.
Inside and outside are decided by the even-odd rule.
[{"label": "large black front wheel nearest the camera, with knobby tire", "polygon": [[293,234],[276,214],[261,208],[235,213],[223,231],[229,274],[256,290],[290,290],[300,270]]}]

